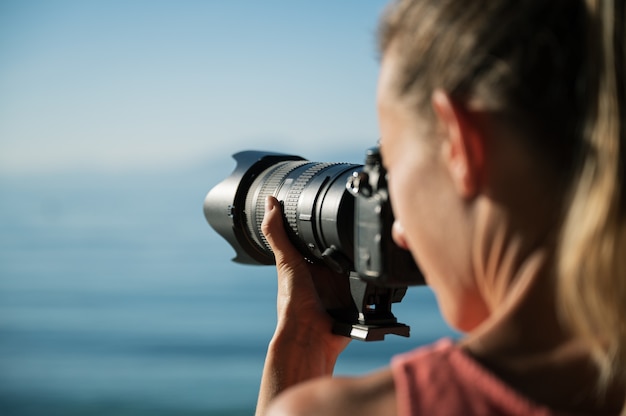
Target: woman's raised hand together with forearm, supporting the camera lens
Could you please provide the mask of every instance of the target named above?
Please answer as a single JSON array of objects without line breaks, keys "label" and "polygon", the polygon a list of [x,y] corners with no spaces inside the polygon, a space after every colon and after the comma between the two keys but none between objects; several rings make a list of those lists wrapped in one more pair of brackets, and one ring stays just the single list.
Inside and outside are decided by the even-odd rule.
[{"label": "woman's raised hand together with forearm, supporting the camera lens", "polygon": [[332,374],[350,339],[332,333],[326,310],[352,305],[348,276],[308,263],[293,247],[274,197],[266,200],[262,231],[276,258],[278,323],[265,357],[257,416],[285,389]]}]

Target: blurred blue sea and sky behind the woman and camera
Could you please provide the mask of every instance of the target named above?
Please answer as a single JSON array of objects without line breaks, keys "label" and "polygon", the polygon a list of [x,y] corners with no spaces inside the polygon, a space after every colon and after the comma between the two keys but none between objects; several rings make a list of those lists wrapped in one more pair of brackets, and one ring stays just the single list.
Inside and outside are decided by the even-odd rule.
[{"label": "blurred blue sea and sky behind the woman and camera", "polygon": [[[275,272],[202,202],[240,150],[362,161],[385,3],[0,0],[0,414],[253,412]],[[394,312],[338,374],[453,336]]]}]

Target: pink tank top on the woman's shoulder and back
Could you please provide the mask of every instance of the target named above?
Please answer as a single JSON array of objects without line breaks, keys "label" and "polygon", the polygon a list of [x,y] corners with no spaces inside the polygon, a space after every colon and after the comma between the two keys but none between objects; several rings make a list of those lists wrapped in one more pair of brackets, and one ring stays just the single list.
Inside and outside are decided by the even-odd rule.
[{"label": "pink tank top on the woman's shoulder and back", "polygon": [[398,415],[556,415],[504,384],[449,339],[391,362]]}]

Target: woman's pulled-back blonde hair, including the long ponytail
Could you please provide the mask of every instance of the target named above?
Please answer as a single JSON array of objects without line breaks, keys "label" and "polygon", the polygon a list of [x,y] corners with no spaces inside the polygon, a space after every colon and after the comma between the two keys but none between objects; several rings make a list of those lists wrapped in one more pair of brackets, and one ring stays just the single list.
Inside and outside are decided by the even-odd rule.
[{"label": "woman's pulled-back blonde hair, including the long ponytail", "polygon": [[592,346],[599,385],[626,378],[623,0],[399,0],[380,49],[422,114],[435,88],[478,99],[560,178],[558,305]]}]

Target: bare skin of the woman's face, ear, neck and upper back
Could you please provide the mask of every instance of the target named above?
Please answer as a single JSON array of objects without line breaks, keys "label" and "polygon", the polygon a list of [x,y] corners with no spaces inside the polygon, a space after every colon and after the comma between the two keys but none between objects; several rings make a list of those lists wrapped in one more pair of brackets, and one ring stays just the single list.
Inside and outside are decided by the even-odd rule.
[{"label": "bare skin of the woman's face, ear, neck and upper back", "polygon": [[[596,409],[588,351],[555,305],[556,175],[480,102],[436,90],[435,120],[416,114],[394,94],[395,68],[388,53],[378,90],[394,239],[423,269],[447,322],[467,333],[460,345],[470,355],[538,402]],[[623,391],[613,393],[605,410],[623,403]]]}]

